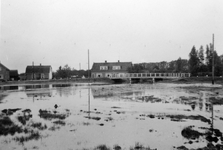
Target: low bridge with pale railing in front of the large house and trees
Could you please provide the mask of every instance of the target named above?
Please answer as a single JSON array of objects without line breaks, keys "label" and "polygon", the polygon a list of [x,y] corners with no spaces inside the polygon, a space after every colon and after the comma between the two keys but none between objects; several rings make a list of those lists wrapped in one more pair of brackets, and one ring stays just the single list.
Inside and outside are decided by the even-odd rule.
[{"label": "low bridge with pale railing in front of the large house and trees", "polygon": [[175,78],[189,78],[190,73],[120,73],[112,74],[110,79],[148,79],[151,78],[153,82],[155,79],[175,79]]}]

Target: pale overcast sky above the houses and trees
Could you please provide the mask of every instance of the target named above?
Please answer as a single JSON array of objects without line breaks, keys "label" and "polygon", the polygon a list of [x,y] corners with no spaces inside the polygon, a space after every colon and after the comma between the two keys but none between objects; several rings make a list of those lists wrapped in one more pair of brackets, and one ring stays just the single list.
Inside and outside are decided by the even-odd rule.
[{"label": "pale overcast sky above the houses and trees", "polygon": [[1,0],[0,61],[27,65],[188,59],[212,42],[223,54],[222,0]]}]

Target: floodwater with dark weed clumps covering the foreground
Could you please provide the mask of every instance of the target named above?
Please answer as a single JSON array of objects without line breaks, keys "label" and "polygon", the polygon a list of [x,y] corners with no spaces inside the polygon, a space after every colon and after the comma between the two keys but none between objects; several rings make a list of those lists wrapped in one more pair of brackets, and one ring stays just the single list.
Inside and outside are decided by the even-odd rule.
[{"label": "floodwater with dark weed clumps covering the foreground", "polygon": [[210,84],[4,86],[0,150],[221,148],[222,104]]}]

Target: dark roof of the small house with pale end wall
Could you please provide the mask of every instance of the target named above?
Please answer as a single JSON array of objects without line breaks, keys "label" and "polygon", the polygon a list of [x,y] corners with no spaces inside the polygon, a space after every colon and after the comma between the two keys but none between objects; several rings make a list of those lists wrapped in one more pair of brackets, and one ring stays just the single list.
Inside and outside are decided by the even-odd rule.
[{"label": "dark roof of the small house with pale end wall", "polygon": [[50,73],[51,66],[27,66],[26,73]]}]

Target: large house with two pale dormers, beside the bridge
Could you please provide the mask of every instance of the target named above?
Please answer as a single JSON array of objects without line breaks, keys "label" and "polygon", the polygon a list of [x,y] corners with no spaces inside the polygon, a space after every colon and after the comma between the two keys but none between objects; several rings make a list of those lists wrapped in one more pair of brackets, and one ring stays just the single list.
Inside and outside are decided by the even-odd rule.
[{"label": "large house with two pale dormers, beside the bridge", "polygon": [[132,67],[132,62],[103,62],[94,63],[91,69],[92,78],[109,78],[124,76],[128,73],[128,68]]}]

